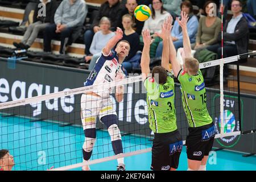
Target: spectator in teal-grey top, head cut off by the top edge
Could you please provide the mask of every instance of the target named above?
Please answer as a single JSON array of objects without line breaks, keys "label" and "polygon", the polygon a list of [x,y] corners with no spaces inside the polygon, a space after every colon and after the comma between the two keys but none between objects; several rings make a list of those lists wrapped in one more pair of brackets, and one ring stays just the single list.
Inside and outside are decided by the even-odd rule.
[{"label": "spectator in teal-grey top, head cut off by the top edge", "polygon": [[168,11],[174,19],[180,15],[180,4],[181,0],[163,0],[164,9]]}]

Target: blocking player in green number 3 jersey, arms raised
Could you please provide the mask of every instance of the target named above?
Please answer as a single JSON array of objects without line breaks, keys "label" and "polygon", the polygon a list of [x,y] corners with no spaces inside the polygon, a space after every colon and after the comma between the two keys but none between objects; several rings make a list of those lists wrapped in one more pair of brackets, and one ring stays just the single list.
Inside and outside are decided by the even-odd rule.
[{"label": "blocking player in green number 3 jersey, arms raised", "polygon": [[163,39],[162,66],[154,67],[150,74],[150,31],[144,30],[141,70],[144,86],[147,90],[148,122],[154,131],[155,138],[152,146],[151,169],[174,171],[179,166],[183,141],[176,125],[174,106],[174,78],[169,67],[168,38],[171,32],[171,16],[162,26],[162,32],[156,33]]}]

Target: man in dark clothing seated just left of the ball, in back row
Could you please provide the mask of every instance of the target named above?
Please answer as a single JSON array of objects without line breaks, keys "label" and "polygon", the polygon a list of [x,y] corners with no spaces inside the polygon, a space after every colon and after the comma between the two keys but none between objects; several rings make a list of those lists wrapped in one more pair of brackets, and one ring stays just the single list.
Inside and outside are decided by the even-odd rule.
[{"label": "man in dark clothing seated just left of the ball, in back row", "polygon": [[133,29],[139,34],[141,35],[141,31],[144,25],[144,22],[141,22],[139,20],[137,20],[134,17],[134,10],[135,8],[138,6],[137,0],[127,0],[126,4],[125,4],[125,9],[122,11],[122,16],[125,14],[130,14],[133,18],[133,24],[132,27]]}]

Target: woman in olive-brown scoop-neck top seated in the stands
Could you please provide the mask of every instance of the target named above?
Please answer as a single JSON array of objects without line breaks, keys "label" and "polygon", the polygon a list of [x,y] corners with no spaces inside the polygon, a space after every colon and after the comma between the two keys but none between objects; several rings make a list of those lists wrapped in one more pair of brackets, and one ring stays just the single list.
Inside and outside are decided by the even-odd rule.
[{"label": "woman in olive-brown scoop-neck top seated in the stands", "polygon": [[204,10],[207,16],[201,16],[197,30],[196,43],[191,44],[195,50],[207,48],[217,43],[218,33],[221,31],[221,19],[210,16],[209,10],[213,8],[213,1],[207,1]]}]

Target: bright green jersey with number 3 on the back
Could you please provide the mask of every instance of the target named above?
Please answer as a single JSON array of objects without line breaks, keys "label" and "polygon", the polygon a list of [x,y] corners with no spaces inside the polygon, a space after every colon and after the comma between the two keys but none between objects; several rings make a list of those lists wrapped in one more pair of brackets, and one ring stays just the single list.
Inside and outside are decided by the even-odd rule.
[{"label": "bright green jersey with number 3 on the back", "polygon": [[169,133],[177,130],[174,107],[174,78],[168,73],[165,84],[157,84],[154,78],[144,81],[147,90],[148,122],[154,133]]}]

